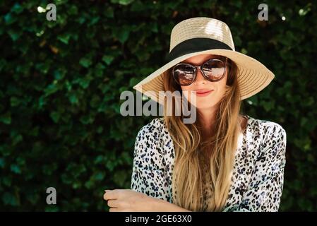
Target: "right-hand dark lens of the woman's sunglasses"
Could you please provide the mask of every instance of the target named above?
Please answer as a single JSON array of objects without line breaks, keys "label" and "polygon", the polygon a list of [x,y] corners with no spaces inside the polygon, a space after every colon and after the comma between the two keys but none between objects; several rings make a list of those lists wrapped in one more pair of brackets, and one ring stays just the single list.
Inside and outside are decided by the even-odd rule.
[{"label": "right-hand dark lens of the woman's sunglasses", "polygon": [[210,81],[217,81],[225,73],[225,63],[220,59],[210,59],[203,64],[203,72]]}]

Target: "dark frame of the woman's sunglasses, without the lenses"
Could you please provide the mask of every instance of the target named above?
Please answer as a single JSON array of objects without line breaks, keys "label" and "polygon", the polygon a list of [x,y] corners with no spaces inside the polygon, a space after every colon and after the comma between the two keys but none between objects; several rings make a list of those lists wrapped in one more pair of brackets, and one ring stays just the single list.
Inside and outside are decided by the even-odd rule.
[{"label": "dark frame of the woman's sunglasses, without the lenses", "polygon": [[201,74],[203,75],[203,77],[204,77],[205,79],[207,79],[208,81],[210,81],[210,82],[217,82],[217,81],[222,80],[222,78],[225,77],[225,74],[226,74],[226,71],[227,71],[227,60],[228,60],[228,58],[225,57],[225,62],[222,61],[222,63],[225,65],[225,70],[224,70],[224,72],[223,72],[221,78],[218,78],[217,80],[210,80],[209,77],[206,76],[205,73],[203,72],[203,66],[204,66],[208,61],[210,61],[210,60],[222,61],[222,59],[219,59],[219,58],[210,58],[210,59],[206,60],[205,62],[203,62],[203,64],[197,65],[197,66],[195,66],[195,65],[193,65],[193,64],[189,64],[189,63],[179,63],[179,64],[176,64],[175,66],[172,67],[172,75],[173,75],[174,80],[177,82],[177,84],[179,84],[179,80],[178,80],[178,79],[176,78],[176,76],[174,75],[174,68],[175,68],[176,66],[179,66],[179,65],[191,66],[191,68],[193,68],[193,71],[194,71],[193,81],[191,81],[191,83],[186,84],[186,85],[181,85],[181,84],[179,84],[179,85],[181,85],[181,86],[191,85],[194,81],[196,81],[196,78],[197,78],[197,69],[200,69],[200,70],[201,70]]}]

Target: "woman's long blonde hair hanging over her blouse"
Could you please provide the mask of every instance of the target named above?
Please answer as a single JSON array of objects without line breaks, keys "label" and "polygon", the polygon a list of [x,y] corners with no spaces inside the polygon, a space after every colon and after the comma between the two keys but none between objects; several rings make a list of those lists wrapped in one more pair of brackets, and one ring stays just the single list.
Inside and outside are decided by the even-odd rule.
[{"label": "woman's long blonde hair hanging over her blouse", "polygon": [[[199,112],[198,120],[193,124],[184,124],[183,114],[164,116],[175,150],[173,203],[187,210],[211,212],[221,211],[225,207],[234,165],[234,150],[237,148],[241,131],[238,69],[230,59],[227,62],[227,70],[226,93],[217,104],[213,136],[204,135]],[[170,69],[163,75],[163,80],[165,91],[181,92],[181,87],[174,82]],[[165,111],[167,107],[165,105]],[[174,102],[172,108],[175,108]],[[205,155],[208,157],[203,157]],[[207,162],[207,166],[210,167],[210,174],[203,172],[203,162]],[[208,207],[204,209],[203,179],[206,178],[210,181],[211,197]]]}]

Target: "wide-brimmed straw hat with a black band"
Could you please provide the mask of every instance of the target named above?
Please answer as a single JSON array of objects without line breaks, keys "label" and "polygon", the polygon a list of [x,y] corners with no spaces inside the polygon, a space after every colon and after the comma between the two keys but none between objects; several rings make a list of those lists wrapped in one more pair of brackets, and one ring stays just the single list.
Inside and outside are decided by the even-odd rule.
[{"label": "wide-brimmed straw hat with a black band", "polygon": [[174,26],[169,54],[165,58],[166,64],[133,88],[152,100],[164,104],[162,102],[164,99],[161,99],[162,95],[159,95],[160,91],[164,91],[162,73],[175,64],[199,54],[225,56],[237,64],[241,100],[260,92],[274,78],[274,74],[261,62],[235,51],[227,24],[214,18],[196,17],[183,20]]}]

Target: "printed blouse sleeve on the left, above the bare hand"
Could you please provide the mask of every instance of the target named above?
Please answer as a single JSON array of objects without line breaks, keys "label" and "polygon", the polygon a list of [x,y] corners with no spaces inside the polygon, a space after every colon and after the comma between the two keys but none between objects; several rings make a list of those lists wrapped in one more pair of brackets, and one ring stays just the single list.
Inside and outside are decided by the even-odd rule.
[{"label": "printed blouse sleeve on the left, above the bare hand", "polygon": [[136,136],[131,175],[131,190],[170,201],[163,156],[162,129],[158,119],[143,126]]}]

